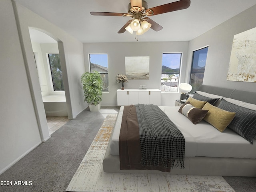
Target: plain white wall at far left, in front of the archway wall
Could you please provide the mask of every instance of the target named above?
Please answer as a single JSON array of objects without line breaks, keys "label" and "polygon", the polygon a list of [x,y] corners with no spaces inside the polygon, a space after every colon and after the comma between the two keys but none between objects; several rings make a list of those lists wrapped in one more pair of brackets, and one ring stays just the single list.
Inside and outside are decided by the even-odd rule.
[{"label": "plain white wall at far left, in front of the archway wall", "polygon": [[0,1],[0,26],[1,174],[42,140],[10,0]]}]

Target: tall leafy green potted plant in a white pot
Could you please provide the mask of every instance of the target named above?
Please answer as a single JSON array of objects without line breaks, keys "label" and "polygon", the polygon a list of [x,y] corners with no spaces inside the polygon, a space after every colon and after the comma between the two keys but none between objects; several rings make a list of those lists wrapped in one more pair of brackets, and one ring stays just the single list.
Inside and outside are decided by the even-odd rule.
[{"label": "tall leafy green potted plant in a white pot", "polygon": [[97,71],[93,73],[85,72],[81,76],[81,82],[84,89],[84,102],[89,104],[90,111],[100,110],[102,101],[103,81]]}]

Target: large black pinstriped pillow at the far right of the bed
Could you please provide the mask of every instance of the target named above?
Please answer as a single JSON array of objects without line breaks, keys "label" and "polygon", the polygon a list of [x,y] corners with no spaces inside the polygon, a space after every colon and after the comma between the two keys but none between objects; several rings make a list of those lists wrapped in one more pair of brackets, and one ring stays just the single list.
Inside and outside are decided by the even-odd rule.
[{"label": "large black pinstriped pillow at the far right of the bed", "polygon": [[225,99],[222,99],[219,108],[236,112],[228,127],[253,144],[256,136],[256,111],[230,103]]}]

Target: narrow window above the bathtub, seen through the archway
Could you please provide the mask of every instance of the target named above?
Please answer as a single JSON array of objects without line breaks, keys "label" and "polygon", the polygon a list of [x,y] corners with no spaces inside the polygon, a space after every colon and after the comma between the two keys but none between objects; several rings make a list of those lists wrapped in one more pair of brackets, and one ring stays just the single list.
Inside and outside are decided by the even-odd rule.
[{"label": "narrow window above the bathtub, seen through the archway", "polygon": [[59,54],[48,54],[54,91],[64,91]]}]

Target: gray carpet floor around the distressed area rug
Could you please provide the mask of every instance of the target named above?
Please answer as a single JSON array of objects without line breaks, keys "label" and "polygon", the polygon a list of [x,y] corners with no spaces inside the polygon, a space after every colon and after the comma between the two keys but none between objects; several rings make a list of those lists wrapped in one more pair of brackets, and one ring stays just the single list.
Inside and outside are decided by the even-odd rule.
[{"label": "gray carpet floor around the distressed area rug", "polygon": [[[65,192],[106,115],[113,111],[102,114],[84,110],[0,175],[1,182],[32,181],[31,186],[0,185],[0,191]],[[255,177],[223,178],[236,192],[256,192]]]}]

